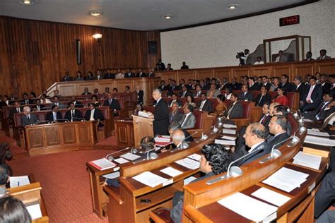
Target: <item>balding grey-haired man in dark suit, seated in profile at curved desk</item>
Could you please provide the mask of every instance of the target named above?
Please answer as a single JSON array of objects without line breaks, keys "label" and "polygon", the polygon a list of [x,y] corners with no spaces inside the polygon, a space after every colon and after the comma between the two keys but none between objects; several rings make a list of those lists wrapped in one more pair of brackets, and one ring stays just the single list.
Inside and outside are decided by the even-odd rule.
[{"label": "balding grey-haired man in dark suit, seated in profile at curved desk", "polygon": [[[232,159],[238,159],[243,155],[249,154],[249,156],[242,159],[237,164],[243,165],[248,164],[249,162],[254,161],[255,159],[259,159],[264,155],[271,152],[271,147],[266,143],[266,137],[268,133],[266,128],[261,123],[251,123],[247,126],[245,130],[245,134],[243,137],[245,138],[245,145],[240,145],[236,149],[236,151],[232,154]],[[242,137],[242,135],[240,135]],[[250,147],[247,151],[245,147]]]}]

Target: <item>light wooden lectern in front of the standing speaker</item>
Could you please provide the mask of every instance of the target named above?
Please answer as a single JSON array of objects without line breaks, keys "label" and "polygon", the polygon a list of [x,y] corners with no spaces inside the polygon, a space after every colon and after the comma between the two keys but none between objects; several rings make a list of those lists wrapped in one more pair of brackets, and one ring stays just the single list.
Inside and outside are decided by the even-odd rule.
[{"label": "light wooden lectern in front of the standing speaker", "polygon": [[141,146],[141,139],[144,136],[153,136],[153,119],[141,116],[133,116],[134,124],[134,141],[135,147]]}]

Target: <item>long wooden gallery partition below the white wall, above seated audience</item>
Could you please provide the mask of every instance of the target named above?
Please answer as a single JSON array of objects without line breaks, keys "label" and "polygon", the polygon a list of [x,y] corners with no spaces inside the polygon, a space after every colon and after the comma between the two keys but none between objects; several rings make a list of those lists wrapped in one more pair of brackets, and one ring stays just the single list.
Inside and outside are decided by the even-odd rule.
[{"label": "long wooden gallery partition below the white wall, above seated audience", "polygon": [[196,68],[189,70],[159,71],[162,80],[172,78],[179,83],[180,78],[204,79],[204,78],[227,78],[231,81],[233,77],[240,80],[241,76],[281,76],[287,74],[292,81],[294,76],[305,77],[306,74],[315,75],[316,72],[332,74],[335,73],[335,59],[324,61],[302,61],[293,63],[267,63],[253,66],[227,66],[216,68]]}]

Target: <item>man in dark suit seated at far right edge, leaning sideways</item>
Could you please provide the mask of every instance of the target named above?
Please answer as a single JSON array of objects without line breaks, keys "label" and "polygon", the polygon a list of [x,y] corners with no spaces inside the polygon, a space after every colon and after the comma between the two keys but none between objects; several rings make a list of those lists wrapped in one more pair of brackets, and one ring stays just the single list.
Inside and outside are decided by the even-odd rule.
[{"label": "man in dark suit seated at far right edge, leaning sideways", "polygon": [[312,121],[320,121],[324,120],[329,116],[329,114],[335,111],[335,107],[329,107],[330,104],[334,100],[334,95],[330,92],[324,93],[322,97],[323,102],[319,105],[319,107],[314,111],[305,111],[302,113],[305,119],[310,119]]}]

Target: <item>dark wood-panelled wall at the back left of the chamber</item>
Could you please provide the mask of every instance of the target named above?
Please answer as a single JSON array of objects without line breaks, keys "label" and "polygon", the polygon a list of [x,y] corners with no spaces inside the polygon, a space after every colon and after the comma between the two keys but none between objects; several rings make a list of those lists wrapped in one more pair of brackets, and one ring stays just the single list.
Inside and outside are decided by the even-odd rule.
[{"label": "dark wood-panelled wall at the back left of the chamber", "polygon": [[[100,32],[98,44],[92,35]],[[76,40],[81,40],[81,64],[76,63]],[[148,54],[156,41],[158,54]],[[52,23],[0,16],[0,89],[21,95],[61,80],[65,71],[83,76],[99,68],[155,67],[160,58],[159,31],[133,31],[89,25]]]}]

